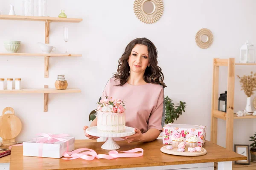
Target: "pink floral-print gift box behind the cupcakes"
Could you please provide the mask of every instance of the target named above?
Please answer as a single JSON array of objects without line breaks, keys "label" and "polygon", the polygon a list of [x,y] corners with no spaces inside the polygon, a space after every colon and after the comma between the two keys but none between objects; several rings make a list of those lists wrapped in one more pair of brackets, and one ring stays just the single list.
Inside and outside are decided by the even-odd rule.
[{"label": "pink floral-print gift box behind the cupcakes", "polygon": [[206,126],[169,123],[163,127],[163,144],[172,144],[172,135],[175,133],[180,133],[184,142],[188,134],[197,136],[198,147],[202,147],[206,140]]}]

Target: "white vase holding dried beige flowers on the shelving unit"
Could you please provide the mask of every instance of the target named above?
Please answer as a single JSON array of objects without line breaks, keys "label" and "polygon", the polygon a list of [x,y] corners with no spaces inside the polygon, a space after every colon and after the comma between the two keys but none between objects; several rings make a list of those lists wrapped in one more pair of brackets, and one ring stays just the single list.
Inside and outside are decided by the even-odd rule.
[{"label": "white vase holding dried beige flowers on the shelving unit", "polygon": [[240,77],[239,75],[237,75],[237,77],[240,79],[239,82],[241,85],[241,90],[243,90],[245,95],[247,96],[245,110],[248,113],[253,113],[251,107],[251,96],[254,94],[253,91],[256,90],[256,73],[253,74],[253,72],[251,71],[251,74],[248,76],[244,75],[243,77]]}]

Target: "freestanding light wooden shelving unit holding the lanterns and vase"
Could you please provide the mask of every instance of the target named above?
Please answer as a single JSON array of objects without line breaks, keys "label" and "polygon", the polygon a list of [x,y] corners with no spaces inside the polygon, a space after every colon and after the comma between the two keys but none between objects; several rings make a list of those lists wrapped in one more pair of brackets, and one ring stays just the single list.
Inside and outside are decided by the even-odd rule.
[{"label": "freestanding light wooden shelving unit holding the lanterns and vase", "polygon": [[[213,59],[211,142],[217,143],[217,120],[226,121],[226,148],[233,150],[234,119],[256,119],[256,116],[237,117],[234,114],[235,65],[256,65],[256,63],[235,63],[235,58]],[[227,112],[218,111],[219,66],[227,66]]]}]

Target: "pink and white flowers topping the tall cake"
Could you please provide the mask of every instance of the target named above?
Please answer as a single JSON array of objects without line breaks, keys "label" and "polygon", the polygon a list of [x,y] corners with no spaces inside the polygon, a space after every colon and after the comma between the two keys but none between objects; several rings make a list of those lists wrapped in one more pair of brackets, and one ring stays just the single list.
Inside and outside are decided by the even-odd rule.
[{"label": "pink and white flowers topping the tall cake", "polygon": [[126,110],[125,102],[121,99],[112,99],[112,97],[106,96],[105,99],[101,99],[98,102],[99,106],[96,111],[123,113]]}]

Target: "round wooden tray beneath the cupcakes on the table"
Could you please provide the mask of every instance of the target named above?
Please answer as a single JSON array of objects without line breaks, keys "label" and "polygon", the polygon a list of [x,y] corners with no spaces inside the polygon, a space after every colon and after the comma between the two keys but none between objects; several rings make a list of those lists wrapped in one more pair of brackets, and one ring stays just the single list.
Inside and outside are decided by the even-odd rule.
[{"label": "round wooden tray beneath the cupcakes on the table", "polygon": [[185,152],[178,152],[178,148],[166,149],[167,146],[168,145],[161,147],[161,152],[178,156],[202,156],[207,154],[207,150],[203,147],[201,147],[201,152],[189,152],[187,148],[185,148]]}]

